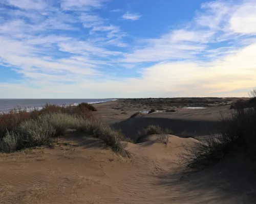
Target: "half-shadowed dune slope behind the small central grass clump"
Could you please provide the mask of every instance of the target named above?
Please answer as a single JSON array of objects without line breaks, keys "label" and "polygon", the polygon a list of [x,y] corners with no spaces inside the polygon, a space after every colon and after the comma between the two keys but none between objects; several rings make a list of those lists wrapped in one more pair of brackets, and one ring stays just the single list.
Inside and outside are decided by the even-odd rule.
[{"label": "half-shadowed dune slope behind the small central grass clump", "polygon": [[137,139],[137,132],[149,124],[167,127],[180,137],[186,135],[200,137],[209,133],[219,133],[220,111],[224,115],[231,113],[229,106],[194,110],[178,109],[178,112],[174,113],[158,112],[127,118],[112,124],[112,126],[115,129],[120,129],[126,137],[134,141]]}]

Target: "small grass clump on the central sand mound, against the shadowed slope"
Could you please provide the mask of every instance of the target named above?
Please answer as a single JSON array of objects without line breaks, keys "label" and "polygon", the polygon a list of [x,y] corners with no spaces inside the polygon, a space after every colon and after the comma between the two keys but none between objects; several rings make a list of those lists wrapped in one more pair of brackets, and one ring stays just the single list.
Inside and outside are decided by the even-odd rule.
[{"label": "small grass clump on the central sand mound, against the shadowed slope", "polygon": [[149,135],[168,135],[172,133],[173,131],[167,128],[163,129],[159,125],[148,125],[146,128],[142,129],[141,131],[138,131],[138,138],[136,140],[136,143],[138,143],[141,139]]}]

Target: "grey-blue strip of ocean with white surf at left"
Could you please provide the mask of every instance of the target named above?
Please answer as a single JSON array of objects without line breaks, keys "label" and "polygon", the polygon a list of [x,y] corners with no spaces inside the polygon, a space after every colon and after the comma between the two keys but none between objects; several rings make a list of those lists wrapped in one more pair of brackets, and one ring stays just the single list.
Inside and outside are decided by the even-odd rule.
[{"label": "grey-blue strip of ocean with white surf at left", "polygon": [[78,104],[82,102],[86,102],[88,104],[99,104],[112,100],[116,99],[0,99],[0,113],[7,112],[13,108],[21,108],[28,111],[34,108],[40,110],[47,103],[57,106],[78,106]]}]

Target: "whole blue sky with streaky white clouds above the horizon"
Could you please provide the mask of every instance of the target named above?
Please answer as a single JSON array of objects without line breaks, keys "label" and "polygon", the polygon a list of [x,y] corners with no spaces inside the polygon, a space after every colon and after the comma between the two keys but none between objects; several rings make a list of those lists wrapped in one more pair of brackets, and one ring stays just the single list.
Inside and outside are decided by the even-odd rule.
[{"label": "whole blue sky with streaky white clouds above the horizon", "polygon": [[1,0],[0,98],[241,97],[256,0]]}]

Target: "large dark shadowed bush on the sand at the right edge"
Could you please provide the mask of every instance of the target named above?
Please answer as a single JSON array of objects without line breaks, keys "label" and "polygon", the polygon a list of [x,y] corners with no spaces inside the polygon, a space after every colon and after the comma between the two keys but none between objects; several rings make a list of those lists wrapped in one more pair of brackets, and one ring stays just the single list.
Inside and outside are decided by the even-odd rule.
[{"label": "large dark shadowed bush on the sand at the right edge", "polygon": [[192,168],[215,164],[232,151],[244,151],[256,159],[256,105],[234,109],[221,119],[219,135],[209,135],[194,145],[185,145],[181,163]]}]

